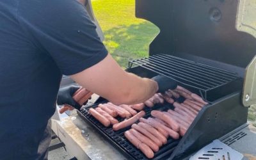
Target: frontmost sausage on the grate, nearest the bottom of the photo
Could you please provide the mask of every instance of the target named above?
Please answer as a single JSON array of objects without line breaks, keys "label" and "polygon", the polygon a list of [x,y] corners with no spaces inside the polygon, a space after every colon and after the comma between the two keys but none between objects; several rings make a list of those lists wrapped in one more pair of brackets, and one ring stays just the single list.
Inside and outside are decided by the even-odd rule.
[{"label": "frontmost sausage on the grate, nearest the bottom of the photo", "polygon": [[146,157],[152,158],[154,157],[154,152],[151,150],[150,147],[148,147],[145,143],[142,143],[138,138],[136,138],[130,131],[124,132],[125,138],[129,140],[132,145],[134,145],[136,148],[140,149],[143,154],[145,154]]}]

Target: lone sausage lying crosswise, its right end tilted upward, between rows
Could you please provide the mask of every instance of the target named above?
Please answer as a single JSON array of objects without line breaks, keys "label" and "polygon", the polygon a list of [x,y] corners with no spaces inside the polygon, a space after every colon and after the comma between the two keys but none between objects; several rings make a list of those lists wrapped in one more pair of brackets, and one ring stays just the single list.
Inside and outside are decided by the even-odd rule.
[{"label": "lone sausage lying crosswise, its right end tilted upward, between rows", "polygon": [[145,114],[146,114],[145,111],[140,111],[136,115],[132,116],[132,118],[124,120],[123,122],[120,122],[118,124],[114,124],[113,125],[113,130],[118,131],[119,129],[123,129],[125,127],[130,126],[130,125],[134,124],[136,121],[138,121],[140,118],[145,116]]}]

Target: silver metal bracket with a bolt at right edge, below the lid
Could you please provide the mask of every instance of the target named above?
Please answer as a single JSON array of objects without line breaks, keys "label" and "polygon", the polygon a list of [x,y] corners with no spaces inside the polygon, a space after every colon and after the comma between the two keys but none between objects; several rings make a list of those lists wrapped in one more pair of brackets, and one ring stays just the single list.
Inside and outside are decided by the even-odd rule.
[{"label": "silver metal bracket with a bolt at right edge, below the lid", "polygon": [[256,104],[256,56],[246,67],[242,101],[245,107]]}]

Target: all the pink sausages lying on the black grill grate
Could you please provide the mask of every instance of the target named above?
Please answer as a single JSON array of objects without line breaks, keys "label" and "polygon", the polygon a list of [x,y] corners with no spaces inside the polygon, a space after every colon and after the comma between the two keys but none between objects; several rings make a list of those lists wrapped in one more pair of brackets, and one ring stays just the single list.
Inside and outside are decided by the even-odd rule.
[{"label": "all the pink sausages lying on the black grill grate", "polygon": [[[180,96],[185,99],[182,103],[177,102]],[[152,108],[154,104],[164,103],[164,101],[173,104],[174,110],[152,110],[149,118],[143,118],[145,106]],[[152,158],[154,152],[157,152],[159,147],[167,142],[168,137],[177,140],[180,136],[184,136],[198,111],[205,104],[207,102],[201,97],[178,86],[175,90],[156,93],[141,104],[116,106],[109,102],[99,104],[95,109],[90,108],[89,112],[105,127],[113,125],[114,131],[131,126],[131,129],[125,131],[125,138],[140,149],[145,156]],[[116,116],[125,118],[125,120],[118,122]],[[136,124],[138,120],[140,122]]]}]

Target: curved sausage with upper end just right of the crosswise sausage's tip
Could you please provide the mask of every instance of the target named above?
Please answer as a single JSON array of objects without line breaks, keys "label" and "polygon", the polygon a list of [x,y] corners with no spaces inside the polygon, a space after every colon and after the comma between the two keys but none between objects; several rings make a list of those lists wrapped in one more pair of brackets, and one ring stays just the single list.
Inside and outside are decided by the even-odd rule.
[{"label": "curved sausage with upper end just right of the crosswise sausage's tip", "polygon": [[159,118],[160,120],[163,120],[163,122],[166,122],[166,124],[168,124],[173,129],[173,131],[179,131],[179,125],[175,122],[175,120],[173,120],[172,117],[166,116],[161,111],[156,110],[151,111],[151,115]]}]

